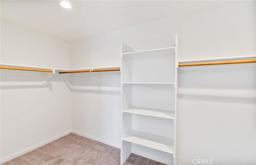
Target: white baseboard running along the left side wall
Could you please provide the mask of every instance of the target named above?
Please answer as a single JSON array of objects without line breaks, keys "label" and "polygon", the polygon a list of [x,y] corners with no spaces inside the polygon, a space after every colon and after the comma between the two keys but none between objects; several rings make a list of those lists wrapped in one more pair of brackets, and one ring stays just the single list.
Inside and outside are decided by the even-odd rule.
[{"label": "white baseboard running along the left side wall", "polygon": [[41,147],[41,146],[43,146],[43,145],[46,145],[46,144],[48,144],[48,143],[50,143],[50,142],[52,142],[52,141],[54,141],[54,140],[56,140],[56,139],[59,139],[60,137],[66,136],[66,135],[68,135],[68,134],[71,133],[71,132],[72,132],[72,130],[66,131],[66,132],[64,132],[64,133],[61,133],[61,134],[56,135],[56,136],[54,136],[54,137],[51,137],[50,139],[47,139],[47,140],[45,140],[45,141],[42,141],[42,142],[37,143],[37,144],[35,144],[35,145],[32,145],[31,147],[28,147],[28,148],[26,148],[26,149],[22,149],[21,151],[18,151],[18,152],[16,152],[16,153],[13,153],[12,155],[8,155],[7,157],[4,157],[4,158],[0,159],[0,164],[5,163],[6,161],[10,161],[10,160],[12,160],[12,159],[14,159],[14,158],[16,158],[16,157],[18,157],[18,156],[20,156],[20,155],[25,154],[25,153],[28,153],[29,151],[32,151],[32,150],[34,150],[34,149],[37,149],[38,147]]}]

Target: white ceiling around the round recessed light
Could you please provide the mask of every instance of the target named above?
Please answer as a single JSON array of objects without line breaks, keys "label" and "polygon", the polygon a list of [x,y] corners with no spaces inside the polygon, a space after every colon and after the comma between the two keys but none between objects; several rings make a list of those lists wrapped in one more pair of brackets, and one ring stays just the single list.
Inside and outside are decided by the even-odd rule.
[{"label": "white ceiling around the round recessed light", "polygon": [[178,13],[215,6],[223,1],[69,1],[1,0],[1,20],[75,41]]}]

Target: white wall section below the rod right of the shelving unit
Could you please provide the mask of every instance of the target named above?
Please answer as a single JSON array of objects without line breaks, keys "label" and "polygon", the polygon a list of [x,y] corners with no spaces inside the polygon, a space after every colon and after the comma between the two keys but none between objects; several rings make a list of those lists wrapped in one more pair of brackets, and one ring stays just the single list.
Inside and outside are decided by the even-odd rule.
[{"label": "white wall section below the rod right of the shelving unit", "polygon": [[190,165],[194,159],[216,165],[256,163],[255,80],[255,64],[179,71],[180,163]]}]

